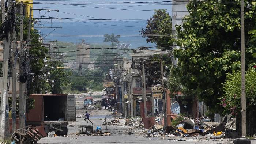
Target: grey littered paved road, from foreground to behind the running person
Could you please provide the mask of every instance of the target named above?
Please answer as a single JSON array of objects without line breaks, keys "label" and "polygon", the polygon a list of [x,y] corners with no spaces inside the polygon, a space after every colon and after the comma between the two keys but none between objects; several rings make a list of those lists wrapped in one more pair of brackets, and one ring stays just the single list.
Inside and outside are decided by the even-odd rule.
[{"label": "grey littered paved road, from foreground to behind the running person", "polygon": [[[90,120],[94,123],[93,128],[96,129],[97,126],[101,126],[104,132],[106,132],[106,125],[102,125],[105,116],[107,122],[113,120],[114,116],[109,115],[110,112],[106,110],[85,110],[85,109],[77,109],[76,115],[83,115],[85,111],[88,111],[91,114]],[[136,135],[128,135],[128,132],[132,132],[125,126],[120,125],[108,125],[108,132],[109,126],[111,129],[111,136],[85,136],[79,135],[79,126],[86,125],[86,121],[83,120],[84,118],[77,118],[76,122],[71,122],[68,125],[68,135],[53,137],[54,132],[49,133],[50,137],[44,137],[38,141],[38,143],[56,143],[56,144],[83,144],[83,143],[96,143],[96,144],[108,144],[108,143],[131,143],[131,144],[233,144],[233,142],[229,139],[207,139],[201,138],[202,141],[196,139],[195,137],[188,137],[186,138],[172,138],[169,137],[162,139],[161,137],[153,137],[153,138],[146,138],[143,136],[136,136]],[[124,122],[124,121],[120,121]],[[89,123],[88,123],[89,124]],[[184,139],[186,141],[174,141],[177,139]],[[256,141],[251,141],[251,144],[256,144]]]}]

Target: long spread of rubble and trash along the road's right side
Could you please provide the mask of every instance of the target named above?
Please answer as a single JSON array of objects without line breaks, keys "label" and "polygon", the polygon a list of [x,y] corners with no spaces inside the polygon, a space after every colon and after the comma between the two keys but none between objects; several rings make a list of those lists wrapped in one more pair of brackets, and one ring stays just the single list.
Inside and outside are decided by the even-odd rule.
[{"label": "long spread of rubble and trash along the road's right side", "polygon": [[225,136],[226,129],[234,129],[235,126],[234,119],[231,119],[226,124],[210,122],[209,119],[204,117],[199,119],[187,117],[182,118],[184,119],[180,121],[180,124],[177,126],[167,126],[166,128],[158,124],[160,117],[155,117],[156,124],[151,126],[149,129],[144,128],[143,119],[140,117],[114,119],[107,122],[107,124],[126,126],[129,129],[129,135],[145,135],[146,137],[196,137],[200,135],[210,136],[210,139],[223,138]]}]

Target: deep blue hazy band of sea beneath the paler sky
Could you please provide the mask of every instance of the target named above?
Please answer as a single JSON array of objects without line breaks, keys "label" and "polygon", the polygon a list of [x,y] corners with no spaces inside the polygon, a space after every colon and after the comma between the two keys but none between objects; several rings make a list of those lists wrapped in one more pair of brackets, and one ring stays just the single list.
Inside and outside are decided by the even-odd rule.
[{"label": "deep blue hazy band of sea beneath the paler sky", "polygon": [[[43,23],[44,27],[49,27],[50,22]],[[139,46],[154,47],[154,43],[147,43],[146,38],[142,38],[140,30],[146,27],[146,21],[79,21],[79,22],[52,22],[52,27],[62,27],[54,30],[53,28],[36,28],[40,31],[45,41],[64,41],[80,43],[82,39],[88,44],[107,44],[103,42],[104,34],[121,35],[120,43],[129,43],[131,48]],[[37,27],[41,27],[39,25]],[[53,31],[54,30],[54,31]]]}]

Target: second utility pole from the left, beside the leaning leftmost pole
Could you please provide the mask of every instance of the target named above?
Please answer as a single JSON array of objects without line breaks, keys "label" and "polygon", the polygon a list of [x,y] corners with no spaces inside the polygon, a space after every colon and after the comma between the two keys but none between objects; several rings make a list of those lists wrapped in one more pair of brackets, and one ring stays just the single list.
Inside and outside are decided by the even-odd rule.
[{"label": "second utility pole from the left, beside the leaning leftmost pole", "polygon": [[[15,11],[15,10],[14,10]],[[16,18],[16,14],[15,14]],[[16,86],[17,86],[17,80],[16,80],[16,60],[15,60],[15,55],[16,55],[16,31],[15,29],[13,30],[14,32],[12,33],[12,132],[16,130]]]}]

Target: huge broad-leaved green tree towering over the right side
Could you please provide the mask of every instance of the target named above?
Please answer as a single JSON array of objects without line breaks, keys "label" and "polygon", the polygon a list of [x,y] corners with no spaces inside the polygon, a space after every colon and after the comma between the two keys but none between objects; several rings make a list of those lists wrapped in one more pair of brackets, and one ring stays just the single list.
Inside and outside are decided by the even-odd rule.
[{"label": "huge broad-leaved green tree towering over the right side", "polygon": [[[172,74],[180,79],[189,95],[198,96],[212,112],[223,110],[216,103],[223,94],[226,73],[240,69],[240,7],[240,1],[190,1],[189,15],[182,26],[176,26],[176,43],[181,49],[174,50],[178,63]],[[252,53],[256,46],[249,42],[248,34],[255,29],[255,19],[256,5],[246,1],[246,69],[255,65]]]}]

